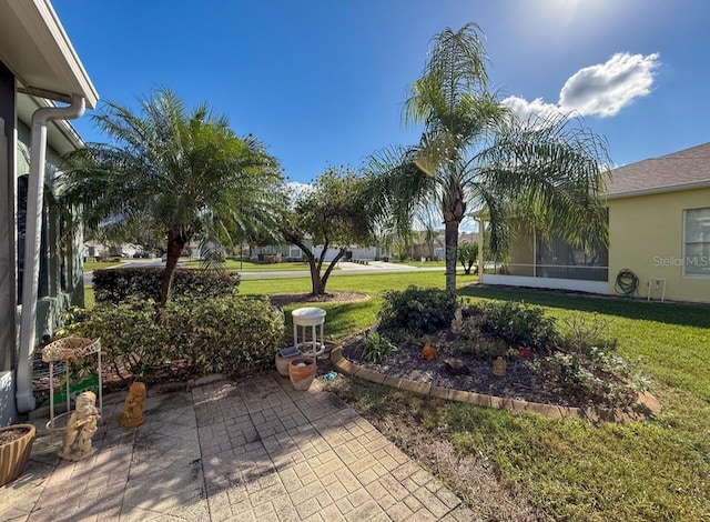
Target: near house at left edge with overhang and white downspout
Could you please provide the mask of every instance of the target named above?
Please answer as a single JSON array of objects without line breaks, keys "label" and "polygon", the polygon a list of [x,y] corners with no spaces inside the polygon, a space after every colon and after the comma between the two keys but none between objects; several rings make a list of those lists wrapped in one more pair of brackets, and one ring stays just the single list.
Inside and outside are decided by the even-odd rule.
[{"label": "near house at left edge with overhang and white downspout", "polygon": [[0,2],[0,425],[34,408],[34,345],[83,303],[82,237],[60,248],[52,194],[60,155],[82,147],[67,120],[97,101],[51,3]]}]

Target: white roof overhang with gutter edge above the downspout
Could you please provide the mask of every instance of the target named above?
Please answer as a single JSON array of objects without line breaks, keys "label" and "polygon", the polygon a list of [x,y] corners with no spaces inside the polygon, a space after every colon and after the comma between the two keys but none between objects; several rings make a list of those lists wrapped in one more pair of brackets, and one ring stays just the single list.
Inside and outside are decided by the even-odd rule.
[{"label": "white roof overhang with gutter edge above the downspout", "polygon": [[20,91],[64,102],[79,94],[89,109],[99,101],[49,0],[0,1],[0,59]]}]

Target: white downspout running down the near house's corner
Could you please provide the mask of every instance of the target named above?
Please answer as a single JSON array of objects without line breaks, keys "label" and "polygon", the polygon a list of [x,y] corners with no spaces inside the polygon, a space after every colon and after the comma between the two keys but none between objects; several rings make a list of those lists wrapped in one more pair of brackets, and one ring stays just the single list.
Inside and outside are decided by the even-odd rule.
[{"label": "white downspout running down the near house's corner", "polygon": [[30,175],[27,191],[27,224],[24,235],[24,277],[22,280],[22,314],[18,358],[16,401],[20,413],[34,410],[32,365],[37,335],[37,293],[40,275],[42,207],[44,204],[44,162],[47,159],[47,123],[50,120],[73,120],[84,113],[85,101],[72,94],[68,107],[43,107],[32,114]]}]

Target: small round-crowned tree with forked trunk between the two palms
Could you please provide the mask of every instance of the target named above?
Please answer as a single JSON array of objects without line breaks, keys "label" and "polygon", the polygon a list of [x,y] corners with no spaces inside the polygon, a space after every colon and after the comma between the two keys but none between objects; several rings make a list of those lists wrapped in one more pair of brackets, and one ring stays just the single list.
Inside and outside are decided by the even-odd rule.
[{"label": "small round-crowned tree with forked trunk between the two palms", "polygon": [[[284,220],[283,238],[303,251],[314,295],[325,293],[328,278],[348,247],[374,241],[373,213],[364,198],[365,183],[363,177],[348,168],[328,168],[315,180],[312,190],[297,197]],[[313,253],[314,245],[323,247],[317,257]],[[337,249],[337,253],[323,271],[328,249]]]}]

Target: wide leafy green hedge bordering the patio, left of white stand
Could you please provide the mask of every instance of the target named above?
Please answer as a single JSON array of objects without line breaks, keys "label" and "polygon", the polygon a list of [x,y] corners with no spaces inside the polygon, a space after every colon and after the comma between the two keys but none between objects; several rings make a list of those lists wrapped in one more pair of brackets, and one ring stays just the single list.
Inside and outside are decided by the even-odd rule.
[{"label": "wide leafy green hedge bordering the patio, left of white stand", "polygon": [[234,374],[271,362],[284,317],[263,297],[175,299],[156,314],[152,300],[100,303],[58,334],[101,338],[119,375],[153,382],[175,369]]}]

